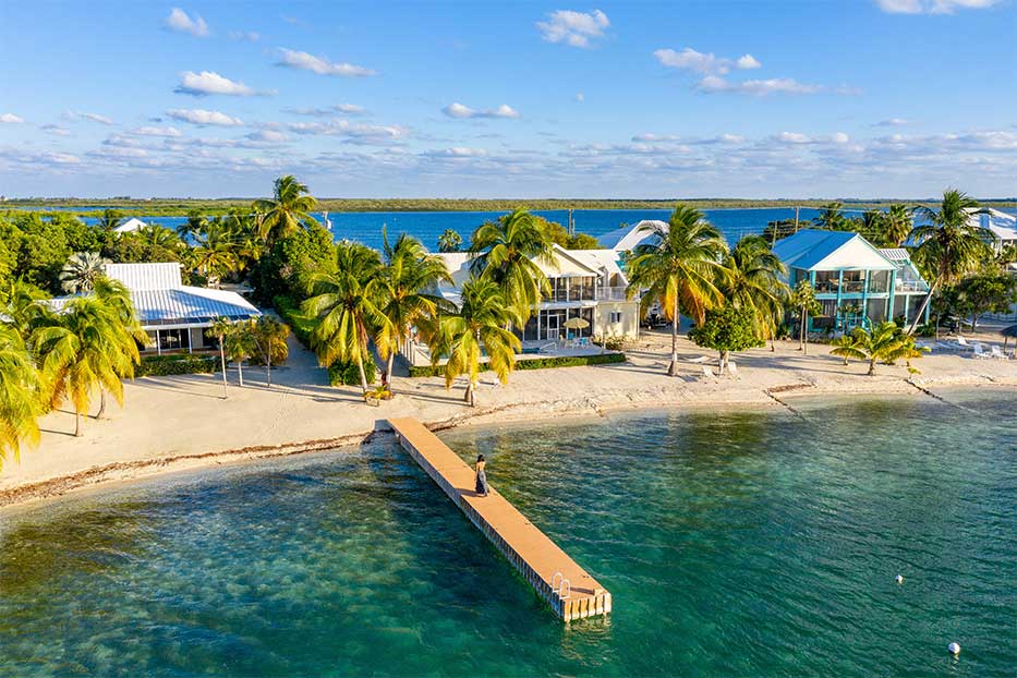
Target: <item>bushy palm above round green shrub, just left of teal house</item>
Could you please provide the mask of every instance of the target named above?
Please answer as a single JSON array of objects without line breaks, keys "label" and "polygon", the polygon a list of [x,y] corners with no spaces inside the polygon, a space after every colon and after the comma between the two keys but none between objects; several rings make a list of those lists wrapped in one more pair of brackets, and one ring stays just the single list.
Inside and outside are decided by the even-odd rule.
[{"label": "bushy palm above round green shrub, just left of teal house", "polygon": [[773,339],[784,319],[784,305],[790,294],[784,277],[787,267],[771,251],[762,235],[747,235],[738,241],[724,261],[726,280],[723,290],[736,308],[748,308],[756,336],[763,341]]}]

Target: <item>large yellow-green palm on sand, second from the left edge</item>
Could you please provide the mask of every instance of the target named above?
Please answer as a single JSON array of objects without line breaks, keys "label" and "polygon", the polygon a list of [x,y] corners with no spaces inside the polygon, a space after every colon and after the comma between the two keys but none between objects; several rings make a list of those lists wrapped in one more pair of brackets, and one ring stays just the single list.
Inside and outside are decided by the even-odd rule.
[{"label": "large yellow-green palm on sand, second from the left edge", "polygon": [[58,324],[36,330],[35,346],[50,407],[71,400],[75,436],[82,435],[82,416],[96,387],[123,404],[121,379],[133,377],[134,365],[141,362],[137,343],[128,339],[117,312],[97,296],[72,299]]}]

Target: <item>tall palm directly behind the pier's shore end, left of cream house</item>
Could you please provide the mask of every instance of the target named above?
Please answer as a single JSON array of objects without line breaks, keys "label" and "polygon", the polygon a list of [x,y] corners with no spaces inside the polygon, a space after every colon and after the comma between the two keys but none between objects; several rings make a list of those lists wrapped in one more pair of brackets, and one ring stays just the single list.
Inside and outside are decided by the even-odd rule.
[{"label": "tall palm directly behind the pier's shore end, left of cream house", "polygon": [[379,310],[388,318],[378,332],[377,346],[382,360],[387,361],[385,380],[392,378],[392,362],[401,347],[410,340],[414,325],[432,325],[439,312],[455,308],[445,299],[431,292],[440,280],[451,280],[445,261],[427,253],[421,241],[401,233],[390,245],[382,230],[385,268],[379,276],[383,294]]}]

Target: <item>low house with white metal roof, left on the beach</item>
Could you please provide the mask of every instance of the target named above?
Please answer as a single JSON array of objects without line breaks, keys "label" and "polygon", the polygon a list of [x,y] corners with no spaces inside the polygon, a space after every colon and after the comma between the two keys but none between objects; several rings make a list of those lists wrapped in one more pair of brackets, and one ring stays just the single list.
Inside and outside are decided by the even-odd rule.
[{"label": "low house with white metal roof, left on the beach", "polygon": [[[107,264],[106,275],[126,286],[142,329],[148,332],[144,352],[187,352],[215,348],[205,335],[216,318],[243,320],[262,315],[237,292],[183,284],[180,264]],[[70,296],[52,300],[59,307]]]}]

